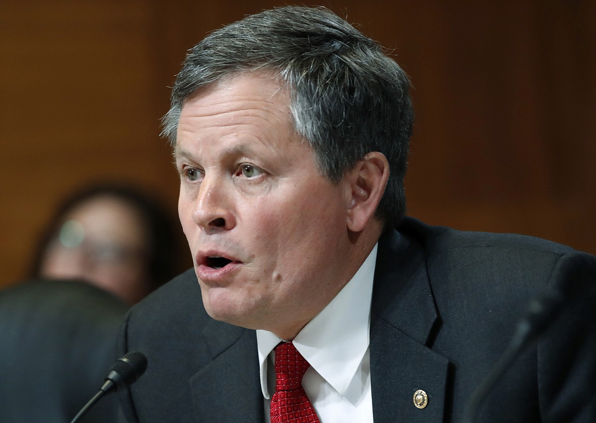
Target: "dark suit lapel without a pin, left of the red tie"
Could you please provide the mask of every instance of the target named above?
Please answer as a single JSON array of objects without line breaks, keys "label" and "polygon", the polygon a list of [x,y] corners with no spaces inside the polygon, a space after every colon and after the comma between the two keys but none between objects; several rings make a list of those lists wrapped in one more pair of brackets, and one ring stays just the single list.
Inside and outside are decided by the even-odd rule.
[{"label": "dark suit lapel without a pin, left of the red tie", "polygon": [[254,331],[210,321],[203,335],[209,354],[188,381],[197,421],[264,421]]}]

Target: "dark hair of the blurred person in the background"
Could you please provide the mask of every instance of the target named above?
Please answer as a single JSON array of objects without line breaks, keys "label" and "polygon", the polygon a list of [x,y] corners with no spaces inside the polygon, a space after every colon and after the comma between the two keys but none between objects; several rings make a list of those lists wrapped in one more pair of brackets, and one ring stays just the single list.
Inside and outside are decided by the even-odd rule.
[{"label": "dark hair of the blurred person in the background", "polygon": [[[42,265],[46,251],[58,237],[67,216],[77,207],[96,198],[114,198],[130,206],[142,220],[147,238],[147,245],[145,245],[147,250],[143,257],[146,263],[147,280],[142,287],[144,292],[139,297],[160,287],[191,265],[190,260],[185,260],[188,254],[185,254],[182,230],[175,216],[170,216],[159,201],[141,189],[125,183],[104,182],[85,186],[73,192],[58,206],[35,250],[30,270],[32,277],[43,276]],[[131,301],[128,302],[131,303]]]}]

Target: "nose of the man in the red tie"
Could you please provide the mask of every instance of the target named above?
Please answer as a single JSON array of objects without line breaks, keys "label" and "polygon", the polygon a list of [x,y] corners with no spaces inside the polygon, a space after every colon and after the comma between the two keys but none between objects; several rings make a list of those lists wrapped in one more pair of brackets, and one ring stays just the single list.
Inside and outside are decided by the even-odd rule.
[{"label": "nose of the man in the red tie", "polygon": [[204,178],[193,206],[193,220],[206,232],[229,231],[234,228],[232,198],[221,179]]}]

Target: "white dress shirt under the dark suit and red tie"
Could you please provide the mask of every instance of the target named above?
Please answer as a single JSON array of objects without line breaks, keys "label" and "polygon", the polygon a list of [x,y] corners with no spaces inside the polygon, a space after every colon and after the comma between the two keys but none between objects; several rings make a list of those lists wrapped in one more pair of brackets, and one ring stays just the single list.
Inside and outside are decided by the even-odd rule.
[{"label": "white dress shirt under the dark suit and red tie", "polygon": [[[372,423],[368,354],[377,245],[331,303],[296,335],[293,343],[311,367],[302,385],[321,423]],[[274,348],[282,340],[257,330],[260,380],[269,423],[275,391]]]}]

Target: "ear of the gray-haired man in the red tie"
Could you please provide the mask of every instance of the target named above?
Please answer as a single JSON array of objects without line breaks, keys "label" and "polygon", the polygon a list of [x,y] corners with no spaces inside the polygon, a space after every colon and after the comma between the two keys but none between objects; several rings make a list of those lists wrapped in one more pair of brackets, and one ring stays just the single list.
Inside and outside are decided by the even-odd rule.
[{"label": "ear of the gray-haired man in the red tie", "polygon": [[356,166],[347,173],[347,228],[360,232],[373,218],[378,203],[385,192],[389,179],[387,158],[373,151],[358,160]]}]

